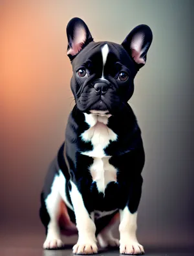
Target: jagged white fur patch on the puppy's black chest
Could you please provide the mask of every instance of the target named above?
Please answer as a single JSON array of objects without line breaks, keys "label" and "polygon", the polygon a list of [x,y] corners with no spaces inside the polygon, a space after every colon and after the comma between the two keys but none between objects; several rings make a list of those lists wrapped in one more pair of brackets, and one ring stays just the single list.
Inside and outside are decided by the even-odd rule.
[{"label": "jagged white fur patch on the puppy's black chest", "polygon": [[87,116],[86,122],[91,127],[81,134],[81,138],[85,142],[91,142],[93,149],[81,154],[93,158],[93,163],[89,167],[92,180],[96,181],[98,191],[104,193],[109,182],[116,182],[116,168],[109,163],[111,156],[105,155],[104,149],[116,140],[117,135],[107,127],[106,116],[93,116],[91,119]]}]

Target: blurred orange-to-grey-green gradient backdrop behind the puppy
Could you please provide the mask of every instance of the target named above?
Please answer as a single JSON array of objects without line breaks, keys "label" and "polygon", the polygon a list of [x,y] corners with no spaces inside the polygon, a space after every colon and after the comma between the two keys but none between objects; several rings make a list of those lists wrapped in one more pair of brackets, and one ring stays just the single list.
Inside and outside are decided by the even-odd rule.
[{"label": "blurred orange-to-grey-green gradient backdrop behind the puppy", "polygon": [[1,246],[40,248],[45,238],[39,194],[74,105],[65,31],[75,16],[96,41],[121,43],[136,25],[151,27],[153,44],[129,101],[146,151],[138,239],[192,244],[192,14],[187,0],[0,0]]}]

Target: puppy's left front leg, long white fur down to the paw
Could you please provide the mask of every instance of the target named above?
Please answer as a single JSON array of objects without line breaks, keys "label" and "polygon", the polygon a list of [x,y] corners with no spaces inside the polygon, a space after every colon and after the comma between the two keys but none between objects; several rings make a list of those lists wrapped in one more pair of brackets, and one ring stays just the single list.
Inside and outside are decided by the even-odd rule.
[{"label": "puppy's left front leg, long white fur down to the paw", "polygon": [[83,198],[74,183],[71,183],[70,198],[76,216],[76,226],[78,228],[78,242],[73,247],[73,253],[93,254],[98,253],[96,245],[96,226],[91,215],[85,208]]}]

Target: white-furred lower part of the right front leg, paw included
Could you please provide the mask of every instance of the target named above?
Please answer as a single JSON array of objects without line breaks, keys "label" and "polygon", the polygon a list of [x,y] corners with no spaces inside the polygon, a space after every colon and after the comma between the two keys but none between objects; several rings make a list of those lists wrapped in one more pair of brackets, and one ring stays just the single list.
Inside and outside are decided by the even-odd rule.
[{"label": "white-furred lower part of the right front leg, paw included", "polygon": [[136,219],[137,212],[131,213],[128,207],[120,210],[120,253],[122,254],[141,254],[144,248],[138,243],[136,238]]}]

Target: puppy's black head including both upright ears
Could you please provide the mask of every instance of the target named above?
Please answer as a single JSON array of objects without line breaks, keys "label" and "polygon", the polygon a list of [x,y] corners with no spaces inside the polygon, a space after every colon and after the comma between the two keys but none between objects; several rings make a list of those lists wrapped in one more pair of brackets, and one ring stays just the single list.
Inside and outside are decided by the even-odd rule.
[{"label": "puppy's black head including both upright ears", "polygon": [[152,32],[135,27],[122,44],[94,42],[87,25],[73,18],[67,25],[67,55],[72,63],[71,90],[81,112],[116,114],[133,95],[133,80],[146,63]]}]

